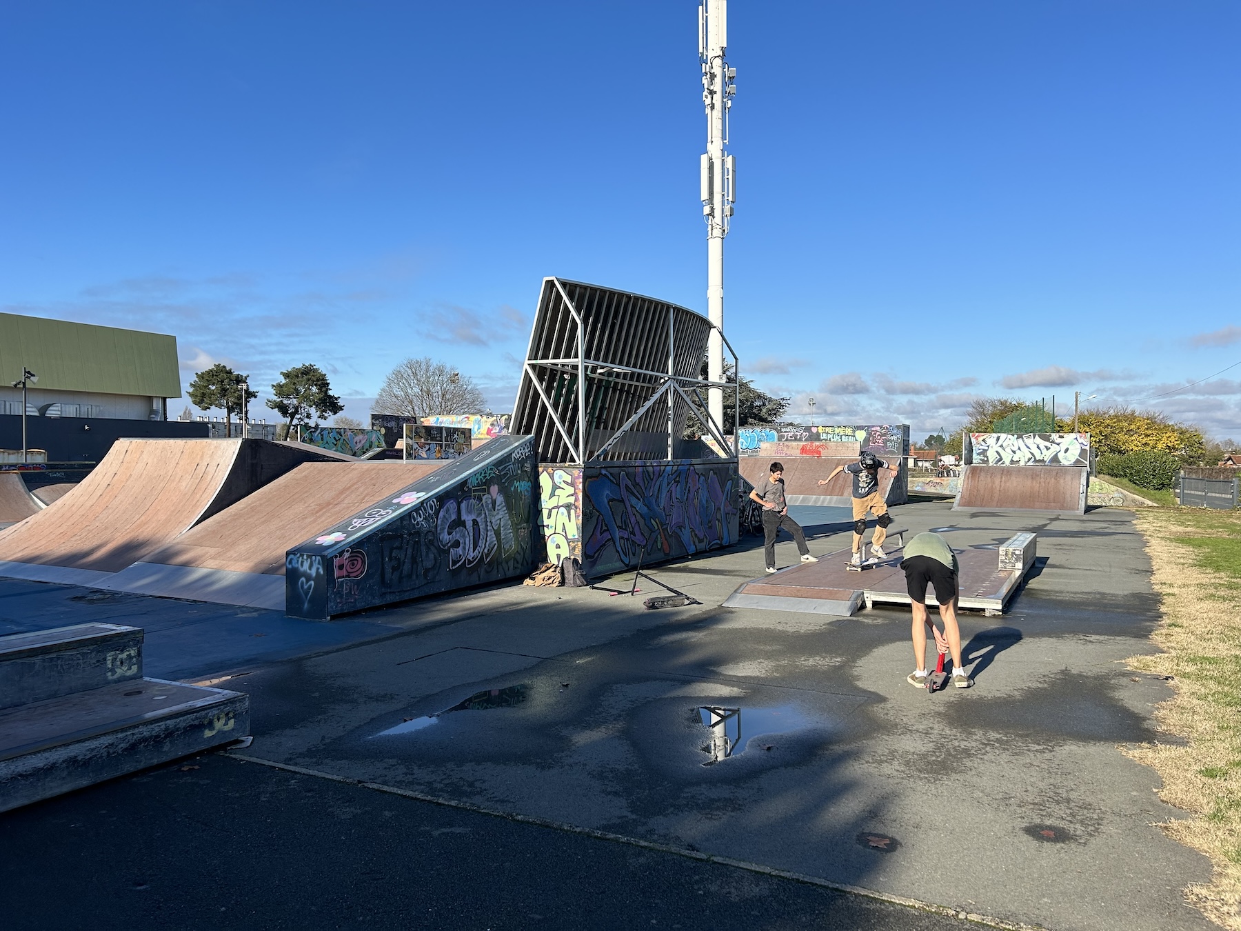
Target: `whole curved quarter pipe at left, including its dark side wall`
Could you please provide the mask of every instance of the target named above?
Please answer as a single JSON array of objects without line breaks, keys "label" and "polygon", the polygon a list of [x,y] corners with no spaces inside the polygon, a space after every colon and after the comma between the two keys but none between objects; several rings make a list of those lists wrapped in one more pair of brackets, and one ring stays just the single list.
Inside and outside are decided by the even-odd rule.
[{"label": "whole curved quarter pipe at left, including its dark side wall", "polygon": [[97,586],[303,462],[263,439],[118,439],[55,504],[0,530],[0,575]]}]

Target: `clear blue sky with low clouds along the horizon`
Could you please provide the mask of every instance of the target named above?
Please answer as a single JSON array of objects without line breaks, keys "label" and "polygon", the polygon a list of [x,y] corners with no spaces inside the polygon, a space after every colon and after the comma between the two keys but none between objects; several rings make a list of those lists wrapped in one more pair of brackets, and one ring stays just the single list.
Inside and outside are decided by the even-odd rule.
[{"label": "clear blue sky with low clouds along the horizon", "polygon": [[[0,2],[0,309],[509,410],[547,274],[705,312],[696,2]],[[1241,5],[732,0],[725,328],[818,422],[1241,439]],[[172,410],[180,410],[172,402]]]}]

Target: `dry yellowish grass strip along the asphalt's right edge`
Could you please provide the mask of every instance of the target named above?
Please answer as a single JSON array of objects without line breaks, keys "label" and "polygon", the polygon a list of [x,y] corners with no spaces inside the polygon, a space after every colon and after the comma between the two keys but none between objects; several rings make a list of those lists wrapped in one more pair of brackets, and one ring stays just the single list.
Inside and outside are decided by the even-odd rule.
[{"label": "dry yellowish grass strip along the asphalt's right edge", "polygon": [[1175,677],[1175,695],[1155,719],[1188,745],[1126,752],[1159,773],[1163,801],[1193,813],[1160,827],[1215,866],[1186,899],[1241,931],[1241,514],[1149,509],[1137,521],[1162,596],[1154,641],[1165,652],[1133,657],[1129,667]]}]

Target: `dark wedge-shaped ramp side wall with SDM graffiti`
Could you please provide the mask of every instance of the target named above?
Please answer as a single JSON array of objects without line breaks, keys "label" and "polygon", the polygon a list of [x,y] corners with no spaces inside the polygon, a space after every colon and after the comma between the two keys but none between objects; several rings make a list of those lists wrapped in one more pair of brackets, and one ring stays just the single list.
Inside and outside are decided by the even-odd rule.
[{"label": "dark wedge-shaped ramp side wall with SDM graffiti", "polygon": [[529,575],[534,437],[498,437],[285,555],[285,612],[328,618]]}]

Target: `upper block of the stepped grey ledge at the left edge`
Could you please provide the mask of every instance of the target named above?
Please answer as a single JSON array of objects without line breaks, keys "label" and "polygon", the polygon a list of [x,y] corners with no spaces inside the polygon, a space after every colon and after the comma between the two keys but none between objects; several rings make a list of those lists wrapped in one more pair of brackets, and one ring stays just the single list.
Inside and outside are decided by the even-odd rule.
[{"label": "upper block of the stepped grey ledge at the left edge", "polygon": [[91,623],[0,637],[0,709],[141,675],[140,627]]}]

